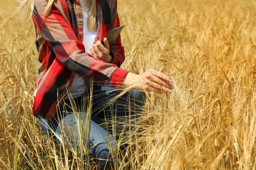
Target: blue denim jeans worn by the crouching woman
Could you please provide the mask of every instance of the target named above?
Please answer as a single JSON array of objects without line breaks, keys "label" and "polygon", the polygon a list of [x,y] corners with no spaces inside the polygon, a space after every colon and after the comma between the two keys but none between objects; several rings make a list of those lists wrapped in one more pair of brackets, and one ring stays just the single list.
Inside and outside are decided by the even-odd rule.
[{"label": "blue denim jeans worn by the crouching woman", "polygon": [[[106,126],[102,125],[106,125],[104,120],[106,118],[111,119],[112,116],[115,116],[117,122],[124,122],[126,121],[125,119],[135,119],[137,115],[135,113],[140,113],[145,103],[145,93],[136,90],[130,90],[116,99],[115,102],[111,102],[120,93],[122,93],[121,90],[116,90],[108,86],[93,86],[93,107],[90,119],[89,141],[86,138],[84,145],[87,144],[87,147],[90,148],[88,150],[89,159],[93,159],[102,169],[108,169],[113,166],[108,148],[110,145],[114,147],[114,138],[111,132],[109,133],[105,128]],[[77,108],[81,111],[84,104],[82,97],[78,97],[74,101]],[[65,106],[60,106],[58,113],[55,114],[51,122],[38,118],[38,123],[44,132],[52,136],[59,144],[61,144],[59,140],[61,130],[62,133],[64,130],[67,145],[77,150],[79,146],[79,134],[81,134],[79,133],[79,130],[81,130],[80,126],[83,125],[84,128],[86,127],[86,109],[85,112],[73,113],[70,101],[65,100],[65,103]],[[71,133],[70,128],[72,128]],[[117,125],[117,132],[118,130],[121,132],[123,128],[119,128]]]}]

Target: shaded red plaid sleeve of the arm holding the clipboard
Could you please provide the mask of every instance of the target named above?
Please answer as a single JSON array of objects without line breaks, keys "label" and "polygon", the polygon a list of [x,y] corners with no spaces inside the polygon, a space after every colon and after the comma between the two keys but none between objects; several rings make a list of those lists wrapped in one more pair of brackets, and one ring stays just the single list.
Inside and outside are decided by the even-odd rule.
[{"label": "shaded red plaid sleeve of the arm holding the clipboard", "polygon": [[[115,5],[112,10],[112,28],[111,29],[117,28],[117,27],[120,27],[120,21],[117,13],[117,1],[115,1]],[[122,46],[120,34],[118,35],[118,37],[116,37],[115,45],[111,45],[110,51],[113,54],[113,60],[111,63],[120,67],[120,65],[125,60],[125,51],[124,51],[124,47]]]}]

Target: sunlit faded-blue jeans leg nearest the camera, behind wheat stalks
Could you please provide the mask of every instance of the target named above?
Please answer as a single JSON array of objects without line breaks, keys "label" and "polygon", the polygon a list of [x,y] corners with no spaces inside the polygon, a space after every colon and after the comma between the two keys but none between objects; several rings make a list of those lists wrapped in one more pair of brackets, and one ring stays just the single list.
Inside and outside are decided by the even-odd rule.
[{"label": "sunlit faded-blue jeans leg nearest the camera, behind wheat stalks", "polygon": [[[76,117],[74,113],[69,114],[65,118],[63,118],[56,131],[61,138],[61,130],[64,129],[64,135],[67,139],[67,145],[69,147],[73,147],[74,150],[79,148],[79,128],[81,125],[87,126],[86,122],[86,114],[85,112],[79,113]],[[100,165],[100,170],[103,170],[104,167],[110,169],[111,166],[113,167],[113,160],[111,160],[111,152],[109,147],[114,147],[114,139],[113,136],[108,134],[107,130],[103,129],[99,125],[100,118],[98,116],[93,116],[90,119],[90,134],[89,134],[89,141],[84,141],[84,146],[88,144],[88,155],[92,161],[94,161],[97,165]],[[86,138],[87,139],[87,138]],[[108,141],[110,140],[110,141]],[[60,144],[61,142],[56,139],[56,141]],[[110,143],[108,143],[110,142]],[[110,146],[111,145],[111,146]],[[80,154],[80,153],[79,153]],[[84,155],[84,160],[86,159],[86,154]]]}]

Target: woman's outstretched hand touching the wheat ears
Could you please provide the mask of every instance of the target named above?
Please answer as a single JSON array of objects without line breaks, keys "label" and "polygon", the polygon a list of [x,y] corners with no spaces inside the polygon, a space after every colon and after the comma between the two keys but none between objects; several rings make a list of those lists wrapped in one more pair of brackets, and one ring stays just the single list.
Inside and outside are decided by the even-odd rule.
[{"label": "woman's outstretched hand touching the wheat ears", "polygon": [[125,75],[122,85],[135,87],[137,90],[154,91],[156,93],[172,93],[172,79],[154,69],[149,69],[142,74],[129,72]]}]

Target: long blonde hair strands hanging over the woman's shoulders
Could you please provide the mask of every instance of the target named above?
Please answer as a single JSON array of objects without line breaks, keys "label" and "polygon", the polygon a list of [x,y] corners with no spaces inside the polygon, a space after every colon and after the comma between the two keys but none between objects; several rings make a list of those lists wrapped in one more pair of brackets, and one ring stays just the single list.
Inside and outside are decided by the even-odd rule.
[{"label": "long blonde hair strands hanging over the woman's shoulders", "polygon": [[[20,5],[17,6],[16,11],[24,10],[21,15],[21,19],[26,18],[27,21],[32,17],[36,0],[22,0]],[[52,4],[55,0],[48,0],[47,6],[45,7],[44,14],[47,16],[51,11]],[[86,0],[86,10],[88,10],[87,27],[89,31],[94,31],[96,28],[96,0]]]}]

